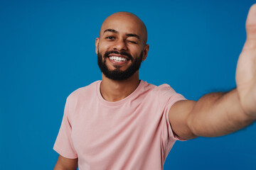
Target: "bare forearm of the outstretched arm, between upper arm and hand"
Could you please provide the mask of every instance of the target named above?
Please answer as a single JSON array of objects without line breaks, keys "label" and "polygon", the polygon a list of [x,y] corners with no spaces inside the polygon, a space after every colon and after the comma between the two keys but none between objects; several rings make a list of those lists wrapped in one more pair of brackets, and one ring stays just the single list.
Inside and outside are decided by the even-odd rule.
[{"label": "bare forearm of the outstretched arm, between upper arm and hand", "polygon": [[243,111],[235,89],[200,98],[188,115],[188,126],[196,136],[216,137],[245,128],[254,120]]}]

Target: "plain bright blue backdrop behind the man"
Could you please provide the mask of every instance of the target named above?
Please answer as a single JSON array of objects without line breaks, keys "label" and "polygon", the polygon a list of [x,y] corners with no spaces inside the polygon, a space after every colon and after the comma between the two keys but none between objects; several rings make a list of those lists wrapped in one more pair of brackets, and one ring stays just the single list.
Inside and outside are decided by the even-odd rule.
[{"label": "plain bright blue backdrop behind the man", "polygon": [[[101,79],[95,38],[110,14],[148,28],[140,79],[188,99],[235,87],[245,19],[255,1],[1,1],[1,169],[53,169],[67,96]],[[176,142],[164,169],[256,169],[256,125]]]}]

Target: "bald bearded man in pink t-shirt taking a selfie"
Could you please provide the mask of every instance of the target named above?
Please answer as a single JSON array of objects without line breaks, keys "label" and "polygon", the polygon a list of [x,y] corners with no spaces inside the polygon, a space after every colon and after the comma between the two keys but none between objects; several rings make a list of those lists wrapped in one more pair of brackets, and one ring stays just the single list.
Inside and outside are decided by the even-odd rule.
[{"label": "bald bearded man in pink t-shirt taking a selfie", "polygon": [[102,81],[68,96],[55,169],[163,169],[176,140],[217,137],[256,119],[256,5],[250,8],[237,88],[189,101],[163,84],[139,80],[146,27],[132,13],[109,16],[96,38]]}]

